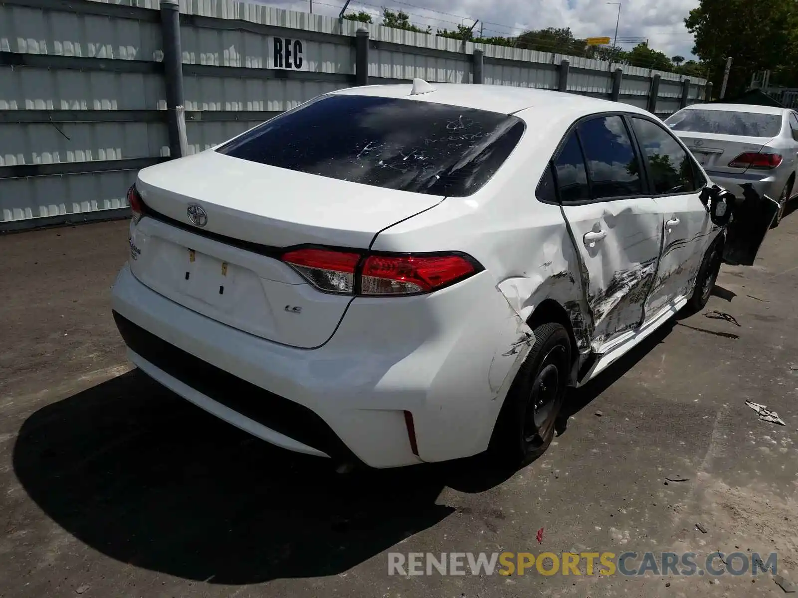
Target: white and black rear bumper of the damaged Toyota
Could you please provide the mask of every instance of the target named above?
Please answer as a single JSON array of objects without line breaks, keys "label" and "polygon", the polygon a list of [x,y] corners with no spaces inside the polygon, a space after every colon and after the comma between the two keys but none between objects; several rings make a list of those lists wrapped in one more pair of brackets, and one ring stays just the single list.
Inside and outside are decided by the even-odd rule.
[{"label": "white and black rear bumper of the damaged Toyota", "polygon": [[[130,359],[178,395],[280,447],[391,467],[488,446],[517,367],[515,356],[501,355],[517,324],[487,273],[461,285],[403,300],[410,314],[422,314],[415,320],[393,308],[388,319],[379,301],[356,300],[333,338],[313,350],[192,312],[143,285],[128,266],[112,301]],[[412,308],[431,299],[432,310]],[[423,313],[458,324],[440,329]]]}]

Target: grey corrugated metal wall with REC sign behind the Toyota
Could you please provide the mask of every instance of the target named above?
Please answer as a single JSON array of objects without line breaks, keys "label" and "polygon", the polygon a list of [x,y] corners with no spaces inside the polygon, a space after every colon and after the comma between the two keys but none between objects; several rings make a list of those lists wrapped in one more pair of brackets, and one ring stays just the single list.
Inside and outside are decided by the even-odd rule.
[{"label": "grey corrugated metal wall with REC sign behind the Toyota", "polygon": [[[169,154],[157,0],[0,4],[0,230],[124,213],[136,171]],[[188,151],[211,148],[283,110],[354,85],[361,23],[235,0],[181,0]],[[369,25],[374,82],[469,83],[477,47]],[[303,43],[302,72],[275,71],[271,36]],[[580,57],[484,46],[484,83],[608,97],[655,112],[681,105],[685,77]],[[692,79],[689,103],[705,81]],[[112,210],[103,212],[101,210]],[[116,210],[116,211],[113,211]],[[41,218],[44,218],[43,220]]]}]

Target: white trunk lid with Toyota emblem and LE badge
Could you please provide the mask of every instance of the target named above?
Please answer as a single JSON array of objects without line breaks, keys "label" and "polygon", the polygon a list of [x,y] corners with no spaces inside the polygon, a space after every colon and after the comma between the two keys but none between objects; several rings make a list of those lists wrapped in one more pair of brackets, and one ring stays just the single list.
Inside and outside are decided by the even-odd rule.
[{"label": "white trunk lid with Toyota emblem and LE badge", "polygon": [[[131,226],[130,263],[140,281],[235,329],[301,348],[330,338],[352,296],[309,285],[281,261],[284,250],[365,251],[377,232],[443,199],[212,150],[140,171],[136,189],[149,216]],[[191,206],[203,218],[192,222]]]}]

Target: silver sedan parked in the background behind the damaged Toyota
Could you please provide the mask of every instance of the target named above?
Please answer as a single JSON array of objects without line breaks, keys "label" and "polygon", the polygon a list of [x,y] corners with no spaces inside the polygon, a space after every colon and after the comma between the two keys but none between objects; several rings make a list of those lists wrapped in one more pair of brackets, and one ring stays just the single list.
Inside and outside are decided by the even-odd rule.
[{"label": "silver sedan parked in the background behind the damaged Toyota", "polygon": [[798,171],[798,114],[749,104],[693,104],[666,121],[713,183],[779,203],[784,214]]}]

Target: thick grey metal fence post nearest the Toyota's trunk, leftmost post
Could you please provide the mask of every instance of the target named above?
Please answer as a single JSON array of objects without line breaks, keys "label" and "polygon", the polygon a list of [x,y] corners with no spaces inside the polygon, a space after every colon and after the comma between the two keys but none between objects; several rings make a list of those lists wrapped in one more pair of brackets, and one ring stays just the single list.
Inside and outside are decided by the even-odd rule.
[{"label": "thick grey metal fence post nearest the Toyota's trunk, leftmost post", "polygon": [[177,0],[160,0],[160,33],[164,46],[169,155],[182,158],[188,154],[188,140],[183,97],[183,51],[180,49],[180,4]]}]

